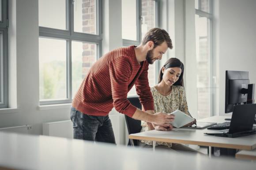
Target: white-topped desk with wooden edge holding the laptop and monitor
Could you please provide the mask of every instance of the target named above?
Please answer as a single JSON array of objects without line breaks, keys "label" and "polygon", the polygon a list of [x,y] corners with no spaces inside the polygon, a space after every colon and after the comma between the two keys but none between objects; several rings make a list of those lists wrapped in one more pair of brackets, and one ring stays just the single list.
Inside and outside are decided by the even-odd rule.
[{"label": "white-topped desk with wooden edge holding the laptop and monitor", "polygon": [[[227,116],[212,116],[206,119],[200,119],[198,122],[216,122],[223,123]],[[216,137],[203,134],[212,130],[208,129],[185,129],[174,128],[171,131],[150,130],[137,134],[130,134],[129,139],[148,140],[153,142],[153,149],[155,141],[171,142],[178,144],[191,144],[209,146],[210,153],[211,147],[219,148],[233,148],[242,150],[252,150],[256,148],[256,134],[237,138]],[[209,155],[211,156],[211,154]]]}]

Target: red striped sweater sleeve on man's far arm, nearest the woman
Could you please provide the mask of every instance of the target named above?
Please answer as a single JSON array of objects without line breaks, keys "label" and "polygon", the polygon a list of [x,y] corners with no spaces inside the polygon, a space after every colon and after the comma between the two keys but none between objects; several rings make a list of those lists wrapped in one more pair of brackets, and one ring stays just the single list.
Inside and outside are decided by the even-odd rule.
[{"label": "red striped sweater sleeve on man's far arm, nearest the woman", "polygon": [[146,64],[143,72],[140,74],[138,80],[135,83],[136,92],[139,95],[139,100],[145,111],[154,110],[154,100],[151,94],[151,90],[148,84],[148,63]]}]

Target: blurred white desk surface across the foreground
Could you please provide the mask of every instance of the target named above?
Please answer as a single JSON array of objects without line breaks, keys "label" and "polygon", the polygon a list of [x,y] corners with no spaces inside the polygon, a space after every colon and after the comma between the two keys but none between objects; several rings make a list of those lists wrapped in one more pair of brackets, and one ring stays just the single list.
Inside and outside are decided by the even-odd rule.
[{"label": "blurred white desk surface across the foreground", "polygon": [[205,170],[206,167],[255,170],[256,163],[0,132],[0,170]]}]

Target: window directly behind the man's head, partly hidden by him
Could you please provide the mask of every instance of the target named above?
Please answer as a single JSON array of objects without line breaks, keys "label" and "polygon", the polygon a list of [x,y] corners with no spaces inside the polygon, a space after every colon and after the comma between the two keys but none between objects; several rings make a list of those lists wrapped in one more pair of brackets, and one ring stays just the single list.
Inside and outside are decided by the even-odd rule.
[{"label": "window directly behind the man's head, partly hidden by him", "polygon": [[[123,45],[138,46],[148,30],[158,27],[158,0],[122,0],[122,38]],[[158,61],[149,65],[148,80],[152,87],[156,83],[159,68]],[[136,95],[135,87],[128,96]]]}]

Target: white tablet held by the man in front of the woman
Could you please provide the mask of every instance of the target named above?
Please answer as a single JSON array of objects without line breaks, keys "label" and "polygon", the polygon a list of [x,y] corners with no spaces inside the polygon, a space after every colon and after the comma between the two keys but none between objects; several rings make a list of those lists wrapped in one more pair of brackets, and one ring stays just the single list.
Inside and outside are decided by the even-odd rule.
[{"label": "white tablet held by the man in front of the woman", "polygon": [[183,127],[184,125],[193,122],[195,119],[192,117],[186,115],[184,112],[181,112],[180,110],[176,110],[170,115],[175,115],[173,122],[170,122],[173,127],[180,128]]}]

